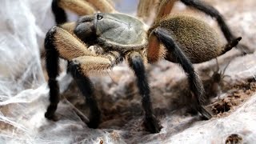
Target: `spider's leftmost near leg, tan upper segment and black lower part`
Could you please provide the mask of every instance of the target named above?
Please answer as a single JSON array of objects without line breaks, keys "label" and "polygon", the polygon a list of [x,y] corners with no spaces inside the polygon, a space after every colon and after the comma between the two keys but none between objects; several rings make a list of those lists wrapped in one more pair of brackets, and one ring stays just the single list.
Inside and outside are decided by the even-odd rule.
[{"label": "spider's leftmost near leg, tan upper segment and black lower part", "polygon": [[54,116],[59,102],[59,86],[56,78],[59,72],[59,57],[71,60],[82,55],[94,55],[86,46],[60,27],[54,26],[46,34],[46,71],[49,76],[50,105],[46,110],[46,118],[56,120]]}]

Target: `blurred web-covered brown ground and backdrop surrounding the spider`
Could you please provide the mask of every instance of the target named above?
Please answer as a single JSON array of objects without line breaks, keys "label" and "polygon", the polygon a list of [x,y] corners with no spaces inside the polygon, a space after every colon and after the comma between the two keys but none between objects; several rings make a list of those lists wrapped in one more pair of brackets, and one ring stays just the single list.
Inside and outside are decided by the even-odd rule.
[{"label": "blurred web-covered brown ground and backdrop surrounding the spider", "polygon": [[[214,118],[202,121],[190,108],[186,75],[174,63],[147,66],[154,113],[163,128],[149,134],[142,126],[142,106],[134,74],[126,63],[108,74],[91,74],[102,123],[90,129],[82,122],[88,115],[85,99],[66,74],[58,78],[62,101],[58,122],[44,118],[48,106],[43,41],[55,25],[51,1],[2,0],[0,5],[0,143],[254,143],[256,141],[256,39],[254,0],[204,0],[242,36],[248,54],[237,49],[209,62],[194,65],[206,89],[206,108]],[[138,1],[114,0],[116,10],[136,16]],[[158,1],[154,1],[158,2]],[[158,3],[155,4],[156,6]],[[150,25],[155,9],[143,20]],[[213,26],[216,22],[176,2],[172,14],[190,14]],[[70,20],[75,14],[70,13]],[[214,74],[225,75],[218,80]],[[80,113],[78,116],[77,113]],[[82,114],[82,116],[81,116]]]}]

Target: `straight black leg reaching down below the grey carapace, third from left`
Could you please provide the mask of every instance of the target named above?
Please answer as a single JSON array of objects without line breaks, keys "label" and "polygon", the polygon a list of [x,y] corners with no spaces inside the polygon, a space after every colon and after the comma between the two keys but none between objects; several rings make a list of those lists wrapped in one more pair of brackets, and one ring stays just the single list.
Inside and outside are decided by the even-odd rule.
[{"label": "straight black leg reaching down below the grey carapace, third from left", "polygon": [[132,52],[128,55],[128,63],[134,74],[137,76],[137,86],[139,94],[142,96],[142,107],[145,111],[144,125],[151,133],[160,132],[162,126],[158,123],[152,110],[150,100],[150,86],[146,78],[146,70],[143,64],[142,55],[138,52]]}]

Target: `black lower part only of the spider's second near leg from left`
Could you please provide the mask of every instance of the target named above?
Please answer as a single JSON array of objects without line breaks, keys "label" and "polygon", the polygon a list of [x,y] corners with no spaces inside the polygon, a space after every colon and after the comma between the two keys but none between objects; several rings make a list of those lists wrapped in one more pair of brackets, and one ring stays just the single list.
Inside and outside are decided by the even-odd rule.
[{"label": "black lower part only of the spider's second near leg from left", "polygon": [[90,108],[90,121],[86,124],[90,128],[95,129],[100,123],[101,111],[98,109],[98,103],[94,97],[94,85],[90,82],[90,78],[81,73],[78,63],[70,62],[68,69],[77,83],[79,90],[81,90],[82,95],[86,97],[86,106]]}]

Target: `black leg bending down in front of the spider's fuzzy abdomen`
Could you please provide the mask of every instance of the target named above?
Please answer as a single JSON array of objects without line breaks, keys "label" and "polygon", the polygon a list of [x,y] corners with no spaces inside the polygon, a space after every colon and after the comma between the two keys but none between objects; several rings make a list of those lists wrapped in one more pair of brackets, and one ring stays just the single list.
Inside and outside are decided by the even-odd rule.
[{"label": "black leg bending down in front of the spider's fuzzy abdomen", "polygon": [[189,58],[187,58],[182,52],[178,44],[174,42],[174,38],[172,38],[172,35],[167,30],[158,27],[154,30],[154,34],[159,38],[164,46],[166,46],[166,49],[170,50],[170,53],[176,59],[176,62],[178,62],[186,72],[190,83],[190,89],[193,91],[196,98],[198,111],[202,114],[203,118],[210,119],[212,117],[210,112],[202,106],[202,102],[204,100],[204,89],[198,74],[194,71],[192,62],[190,62]]}]

